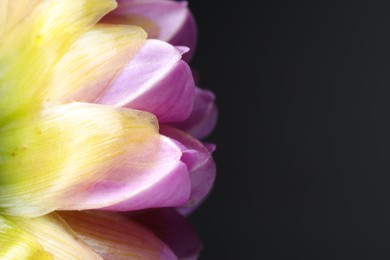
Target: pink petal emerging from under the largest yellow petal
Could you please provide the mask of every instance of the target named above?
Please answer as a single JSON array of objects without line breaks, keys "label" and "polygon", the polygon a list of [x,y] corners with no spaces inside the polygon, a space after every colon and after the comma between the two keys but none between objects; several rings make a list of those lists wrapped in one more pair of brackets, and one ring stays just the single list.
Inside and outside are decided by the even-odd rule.
[{"label": "pink petal emerging from under the largest yellow petal", "polygon": [[167,137],[145,142],[142,149],[73,197],[65,208],[128,211],[183,205],[189,198],[191,183],[181,156],[180,148]]}]

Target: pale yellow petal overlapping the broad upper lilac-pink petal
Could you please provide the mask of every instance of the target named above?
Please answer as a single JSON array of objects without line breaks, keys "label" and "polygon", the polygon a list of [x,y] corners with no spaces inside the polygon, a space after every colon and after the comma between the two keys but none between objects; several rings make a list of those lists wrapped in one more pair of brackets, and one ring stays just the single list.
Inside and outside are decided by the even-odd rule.
[{"label": "pale yellow petal overlapping the broad upper lilac-pink petal", "polygon": [[146,33],[136,26],[96,25],[54,67],[46,100],[96,101],[145,39]]}]

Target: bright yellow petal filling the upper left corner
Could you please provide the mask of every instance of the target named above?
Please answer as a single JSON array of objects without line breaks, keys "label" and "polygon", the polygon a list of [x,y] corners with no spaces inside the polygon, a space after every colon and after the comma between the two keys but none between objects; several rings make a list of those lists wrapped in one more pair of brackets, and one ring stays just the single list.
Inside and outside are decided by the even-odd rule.
[{"label": "bright yellow petal filling the upper left corner", "polygon": [[[26,1],[22,0],[23,12]],[[6,2],[16,12],[18,4]],[[15,18],[20,21],[1,41],[0,123],[9,124],[15,117],[40,110],[54,65],[115,6],[113,0],[42,0],[32,4],[36,8],[25,19]]]}]

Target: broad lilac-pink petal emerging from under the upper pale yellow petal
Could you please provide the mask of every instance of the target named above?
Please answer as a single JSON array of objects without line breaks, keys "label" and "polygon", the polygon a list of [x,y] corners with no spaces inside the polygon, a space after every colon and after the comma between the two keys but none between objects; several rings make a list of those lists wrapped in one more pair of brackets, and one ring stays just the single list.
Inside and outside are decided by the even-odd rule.
[{"label": "broad lilac-pink petal emerging from under the upper pale yellow petal", "polygon": [[174,46],[147,40],[98,103],[153,113],[160,123],[189,117],[195,84]]}]

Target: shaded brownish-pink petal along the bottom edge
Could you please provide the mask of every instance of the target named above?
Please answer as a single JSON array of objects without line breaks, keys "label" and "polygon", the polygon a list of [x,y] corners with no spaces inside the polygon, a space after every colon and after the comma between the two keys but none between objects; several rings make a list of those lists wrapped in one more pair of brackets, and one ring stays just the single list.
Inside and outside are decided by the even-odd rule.
[{"label": "shaded brownish-pink petal along the bottom edge", "polygon": [[104,259],[177,259],[152,232],[123,216],[98,211],[59,214]]}]

